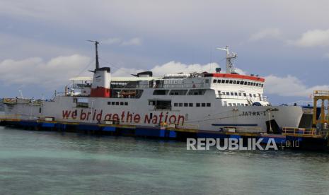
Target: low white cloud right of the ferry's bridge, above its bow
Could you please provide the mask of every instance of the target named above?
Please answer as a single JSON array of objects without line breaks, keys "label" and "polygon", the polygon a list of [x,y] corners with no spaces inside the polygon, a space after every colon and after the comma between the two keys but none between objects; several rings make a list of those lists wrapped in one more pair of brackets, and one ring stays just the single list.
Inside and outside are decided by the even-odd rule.
[{"label": "low white cloud right of the ferry's bridge, above its bow", "polygon": [[309,97],[313,90],[329,90],[329,85],[315,85],[308,87],[295,76],[266,76],[265,93],[280,96]]}]

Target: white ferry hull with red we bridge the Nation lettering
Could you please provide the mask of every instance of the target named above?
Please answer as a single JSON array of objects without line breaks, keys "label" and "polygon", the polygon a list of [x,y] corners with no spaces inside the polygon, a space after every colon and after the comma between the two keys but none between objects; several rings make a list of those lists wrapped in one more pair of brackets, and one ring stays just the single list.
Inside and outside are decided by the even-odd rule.
[{"label": "white ferry hull with red we bridge the Nation lettering", "polygon": [[[74,97],[58,96],[52,102],[42,105],[16,104],[6,105],[6,114],[20,114],[25,118],[54,117],[61,122],[104,123],[117,122],[137,126],[158,126],[161,122],[176,124],[185,129],[221,131],[233,127],[239,131],[266,132],[274,128],[268,123],[275,120],[279,128],[299,126],[302,108],[299,106],[221,106],[220,101],[207,100],[212,107],[173,107],[172,110],[154,110],[148,105],[147,98],[87,98],[89,107],[76,107]],[[195,99],[195,98],[194,98]],[[196,102],[175,98],[173,102]],[[194,101],[194,102],[193,102]],[[204,100],[203,100],[204,101]],[[216,103],[218,101],[218,103]],[[108,105],[108,102],[119,102],[119,105]],[[123,102],[123,105],[121,102]],[[125,105],[125,102],[127,102]],[[184,105],[184,103],[183,103]]]}]

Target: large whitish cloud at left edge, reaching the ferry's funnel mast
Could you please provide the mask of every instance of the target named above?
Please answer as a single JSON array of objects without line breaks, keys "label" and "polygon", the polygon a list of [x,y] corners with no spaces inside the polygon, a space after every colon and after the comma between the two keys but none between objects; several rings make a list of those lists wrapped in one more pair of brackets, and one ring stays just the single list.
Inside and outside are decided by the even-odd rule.
[{"label": "large whitish cloud at left edge, reaching the ferry's funnel mast", "polygon": [[0,62],[0,81],[4,85],[39,85],[48,90],[64,86],[91,61],[79,54],[44,61],[40,57]]}]

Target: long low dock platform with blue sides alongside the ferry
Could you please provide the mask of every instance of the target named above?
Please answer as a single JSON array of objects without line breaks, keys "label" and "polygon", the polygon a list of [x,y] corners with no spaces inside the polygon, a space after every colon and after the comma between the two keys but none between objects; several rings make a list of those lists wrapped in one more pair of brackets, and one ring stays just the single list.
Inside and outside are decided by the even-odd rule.
[{"label": "long low dock platform with blue sides alongside the ferry", "polygon": [[37,131],[67,131],[110,136],[176,139],[183,141],[185,141],[186,138],[255,138],[256,140],[262,138],[261,143],[267,143],[267,141],[272,138],[275,143],[285,148],[296,148],[293,144],[299,142],[299,149],[329,150],[328,131],[319,132],[316,129],[283,128],[282,134],[264,134],[183,129],[173,126],[137,126],[126,124],[46,121],[44,119],[21,119],[18,115],[0,115],[0,125]]}]

